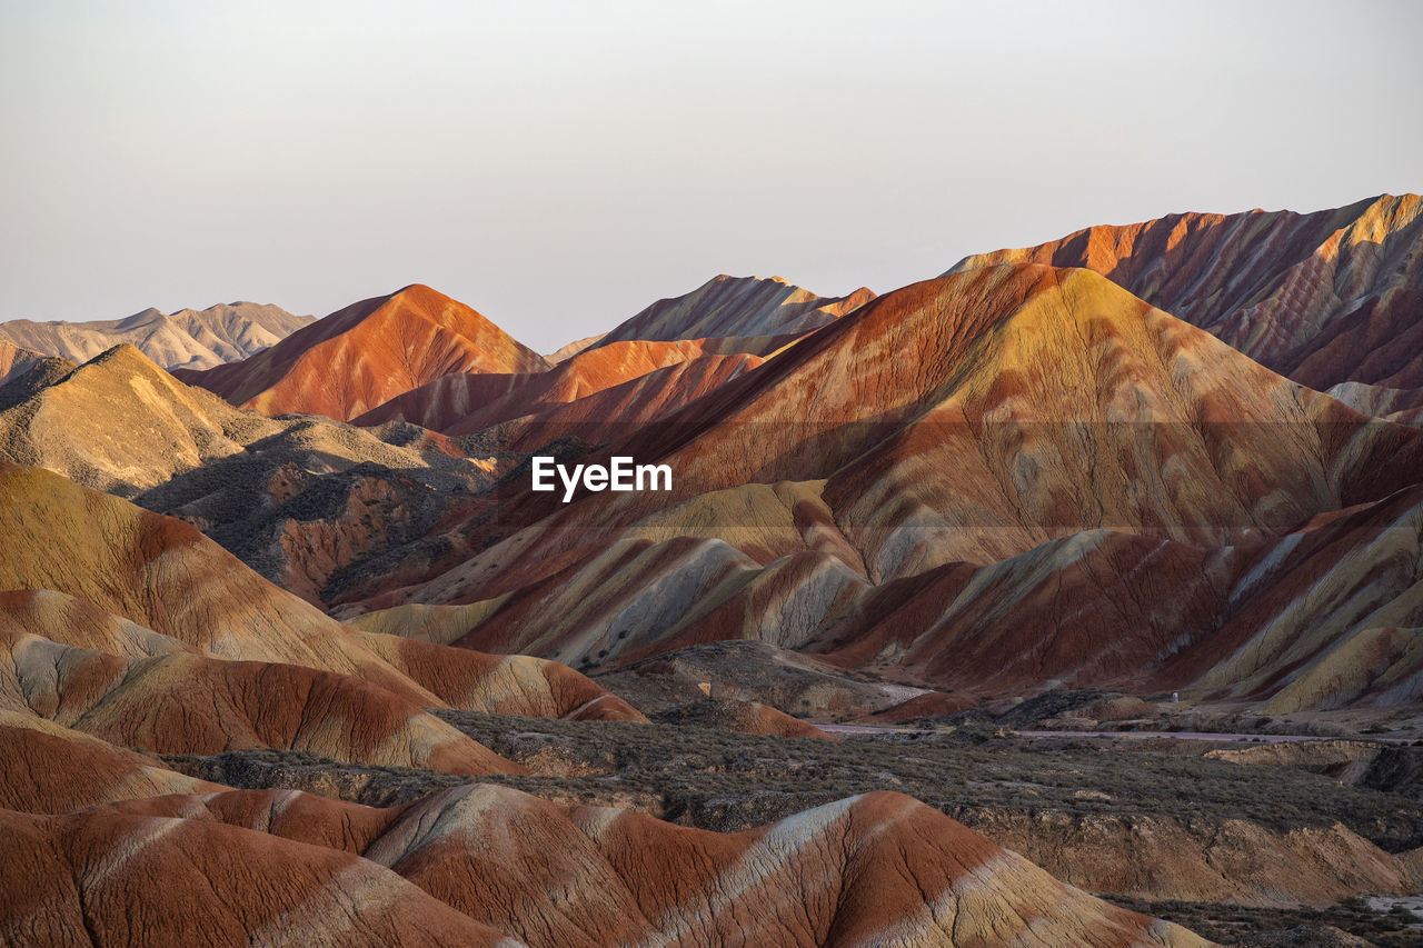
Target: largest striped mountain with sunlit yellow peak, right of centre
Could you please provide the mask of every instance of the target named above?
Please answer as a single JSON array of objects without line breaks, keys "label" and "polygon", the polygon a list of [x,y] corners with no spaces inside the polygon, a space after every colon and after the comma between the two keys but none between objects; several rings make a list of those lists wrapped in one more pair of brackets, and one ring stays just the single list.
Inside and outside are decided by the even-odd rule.
[{"label": "largest striped mountain with sunlit yellow peak, right of centre", "polygon": [[[1340,612],[1299,639],[1298,606],[1269,591],[1291,574],[1257,574],[1296,532],[1323,541],[1333,511],[1396,522],[1406,494],[1379,505],[1420,453],[1417,431],[1091,270],[979,268],[885,295],[591,455],[667,463],[670,494],[562,505],[508,485],[498,538],[467,535],[443,575],[366,605],[485,602],[461,642],[585,669],[750,636],[988,695],[1067,680],[1286,700],[1302,660],[1368,639],[1383,666],[1296,703],[1402,700],[1407,635],[1346,646],[1368,623]],[[1340,581],[1376,575],[1373,554],[1335,549]],[[1402,596],[1385,625],[1410,628],[1399,579],[1373,595]],[[1232,658],[1264,626],[1301,645]]]}]

